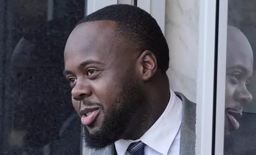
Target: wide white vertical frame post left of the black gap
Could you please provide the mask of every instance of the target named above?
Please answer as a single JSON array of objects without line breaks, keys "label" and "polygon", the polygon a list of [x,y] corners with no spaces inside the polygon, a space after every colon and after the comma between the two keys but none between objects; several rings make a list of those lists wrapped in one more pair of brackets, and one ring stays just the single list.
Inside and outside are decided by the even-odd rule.
[{"label": "wide white vertical frame post left of the black gap", "polygon": [[196,155],[211,155],[214,103],[216,0],[200,1],[196,98]]}]

